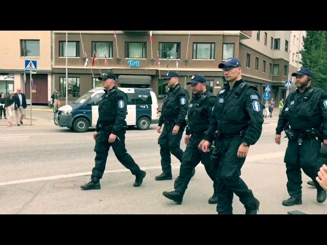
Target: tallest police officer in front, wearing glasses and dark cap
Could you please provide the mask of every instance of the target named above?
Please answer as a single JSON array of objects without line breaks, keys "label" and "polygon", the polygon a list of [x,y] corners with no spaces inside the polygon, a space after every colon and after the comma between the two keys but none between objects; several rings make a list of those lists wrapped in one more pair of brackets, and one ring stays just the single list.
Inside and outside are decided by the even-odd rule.
[{"label": "tallest police officer in front, wearing glasses and dark cap", "polygon": [[217,94],[208,133],[200,145],[204,152],[208,152],[210,142],[215,138],[221,149],[217,170],[217,212],[232,214],[235,193],[245,206],[245,214],[256,214],[259,201],[240,175],[249,146],[261,135],[264,119],[260,95],[254,86],[242,80],[242,65],[238,58],[228,58],[218,67],[223,68],[228,83]]}]

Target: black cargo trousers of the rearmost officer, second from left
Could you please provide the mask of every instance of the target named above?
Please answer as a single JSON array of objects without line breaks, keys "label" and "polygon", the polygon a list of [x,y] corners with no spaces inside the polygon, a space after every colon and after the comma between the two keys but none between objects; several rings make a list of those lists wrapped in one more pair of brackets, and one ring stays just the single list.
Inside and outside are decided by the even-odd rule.
[{"label": "black cargo trousers of the rearmost officer, second from left", "polygon": [[183,135],[184,128],[179,127],[178,133],[173,135],[174,125],[165,124],[159,138],[161,167],[162,172],[172,175],[171,157],[173,154],[180,162],[182,161],[183,151],[180,149],[180,140]]}]

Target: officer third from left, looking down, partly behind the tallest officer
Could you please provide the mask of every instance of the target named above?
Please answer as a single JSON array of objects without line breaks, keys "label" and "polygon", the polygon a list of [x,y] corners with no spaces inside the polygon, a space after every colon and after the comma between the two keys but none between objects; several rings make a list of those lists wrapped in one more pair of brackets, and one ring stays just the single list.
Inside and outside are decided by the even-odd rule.
[{"label": "officer third from left, looking down, partly behind the tallest officer", "polygon": [[175,182],[175,190],[170,192],[164,191],[162,194],[177,204],[181,204],[185,190],[192,178],[192,170],[201,161],[206,173],[214,182],[214,194],[208,202],[216,204],[216,170],[211,168],[210,154],[204,153],[202,149],[198,149],[198,145],[203,140],[205,131],[207,131],[209,118],[216,103],[216,96],[206,90],[205,78],[202,75],[192,76],[192,80],[188,84],[192,86],[193,97],[189,105],[188,127],[186,127],[186,134],[184,136],[186,149],[182,157],[179,177]]}]

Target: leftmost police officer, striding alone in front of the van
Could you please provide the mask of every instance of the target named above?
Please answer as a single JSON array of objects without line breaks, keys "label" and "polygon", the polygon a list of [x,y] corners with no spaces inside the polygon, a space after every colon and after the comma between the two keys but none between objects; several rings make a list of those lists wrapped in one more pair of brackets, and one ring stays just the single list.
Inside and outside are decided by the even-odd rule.
[{"label": "leftmost police officer, striding alone in front of the van", "polygon": [[81,188],[101,188],[100,179],[104,173],[110,146],[117,159],[136,176],[133,186],[140,186],[146,172],[139,169],[125,148],[127,95],[114,85],[114,74],[102,74],[98,79],[102,80],[105,93],[100,98],[99,118],[93,135],[96,140],[96,165],[92,169],[91,181],[81,185]]}]

